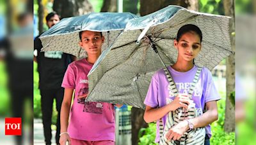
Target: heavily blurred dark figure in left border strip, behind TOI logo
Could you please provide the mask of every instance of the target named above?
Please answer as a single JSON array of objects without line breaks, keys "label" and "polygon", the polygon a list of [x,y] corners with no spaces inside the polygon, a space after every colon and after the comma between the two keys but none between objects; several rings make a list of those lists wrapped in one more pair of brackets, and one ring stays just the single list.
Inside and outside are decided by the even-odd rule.
[{"label": "heavily blurred dark figure in left border strip, behind TOI logo", "polygon": [[[24,114],[24,105],[29,100],[29,114],[33,112],[33,15],[28,12],[17,16],[17,29],[10,36],[0,41],[0,58],[6,64],[8,74],[8,89],[13,118],[22,118],[33,124],[33,117]],[[28,43],[28,42],[31,43]],[[26,43],[25,43],[26,42]],[[24,118],[24,116],[28,118]],[[29,141],[33,142],[33,128],[29,127]],[[26,129],[25,129],[26,130]],[[23,144],[24,127],[22,135],[15,136],[16,144]]]}]

